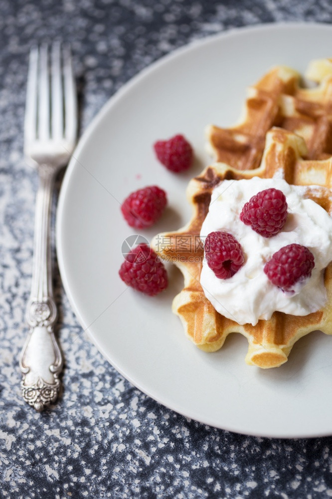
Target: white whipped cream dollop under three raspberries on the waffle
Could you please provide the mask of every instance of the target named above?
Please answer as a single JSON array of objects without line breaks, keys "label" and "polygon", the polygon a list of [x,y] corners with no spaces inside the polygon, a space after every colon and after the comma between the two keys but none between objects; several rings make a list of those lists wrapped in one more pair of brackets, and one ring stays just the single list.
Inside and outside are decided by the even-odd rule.
[{"label": "white whipped cream dollop under three raspberries on the waffle", "polygon": [[[240,220],[245,203],[260,191],[274,187],[282,191],[288,204],[288,217],[282,231],[264,238]],[[318,187],[318,189],[320,189]],[[279,178],[224,180],[212,192],[208,214],[200,237],[204,242],[210,232],[232,234],[241,244],[244,265],[229,279],[219,279],[204,258],[200,283],[213,307],[238,324],[257,324],[270,319],[274,311],[307,315],[324,306],[327,292],[324,269],[332,261],[332,218],[317,203],[303,197],[306,188],[289,185]],[[284,246],[306,246],[315,257],[311,277],[283,291],[264,273],[265,263]]]}]

